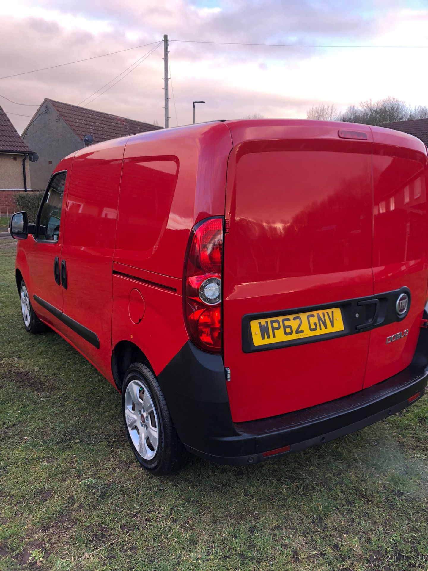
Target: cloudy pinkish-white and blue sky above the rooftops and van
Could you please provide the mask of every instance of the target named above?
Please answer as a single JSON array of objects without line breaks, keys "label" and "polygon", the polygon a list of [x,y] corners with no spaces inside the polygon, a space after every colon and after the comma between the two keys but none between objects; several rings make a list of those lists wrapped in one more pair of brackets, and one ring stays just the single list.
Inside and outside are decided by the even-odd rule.
[{"label": "cloudy pinkish-white and blue sky above the rooftops and van", "polygon": [[143,61],[163,34],[170,126],[192,122],[195,99],[200,121],[387,95],[428,104],[428,48],[381,47],[428,46],[428,0],[0,0],[0,105],[19,132],[45,97],[163,125],[163,46]]}]

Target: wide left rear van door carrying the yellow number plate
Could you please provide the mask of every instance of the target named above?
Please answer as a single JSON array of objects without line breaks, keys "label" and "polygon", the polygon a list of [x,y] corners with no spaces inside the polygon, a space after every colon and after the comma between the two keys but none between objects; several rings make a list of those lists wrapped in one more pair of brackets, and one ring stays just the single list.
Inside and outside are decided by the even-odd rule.
[{"label": "wide left rear van door carrying the yellow number plate", "polygon": [[349,139],[332,123],[228,124],[224,364],[240,422],[362,388],[373,144],[365,126]]}]

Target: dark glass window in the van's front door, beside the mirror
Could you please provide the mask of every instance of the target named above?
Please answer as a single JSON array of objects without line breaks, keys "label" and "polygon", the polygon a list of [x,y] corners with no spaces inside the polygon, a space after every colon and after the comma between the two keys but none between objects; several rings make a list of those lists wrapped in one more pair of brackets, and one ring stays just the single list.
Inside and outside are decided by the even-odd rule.
[{"label": "dark glass window in the van's front door, beside the mirror", "polygon": [[50,181],[45,196],[43,196],[37,227],[37,238],[56,242],[59,236],[59,220],[61,218],[62,197],[66,173],[58,172]]}]

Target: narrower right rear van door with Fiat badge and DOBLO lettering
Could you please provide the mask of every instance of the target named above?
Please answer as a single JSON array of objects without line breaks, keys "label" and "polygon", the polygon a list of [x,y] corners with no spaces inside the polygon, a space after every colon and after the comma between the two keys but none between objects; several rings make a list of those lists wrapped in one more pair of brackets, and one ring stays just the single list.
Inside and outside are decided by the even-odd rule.
[{"label": "narrower right rear van door with Fiat badge and DOBLO lettering", "polygon": [[[372,131],[374,294],[389,304],[393,321],[371,332],[364,387],[410,364],[428,279],[426,147],[405,133]],[[396,305],[402,293],[409,295],[410,308],[401,319]]]}]

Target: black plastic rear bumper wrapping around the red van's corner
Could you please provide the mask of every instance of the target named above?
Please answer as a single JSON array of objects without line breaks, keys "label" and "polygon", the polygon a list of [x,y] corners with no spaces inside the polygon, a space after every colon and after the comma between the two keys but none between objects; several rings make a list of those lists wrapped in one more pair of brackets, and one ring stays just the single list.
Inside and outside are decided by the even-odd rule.
[{"label": "black plastic rear bumper wrapping around the red van's corner", "polygon": [[[425,391],[427,356],[428,329],[421,329],[412,363],[390,379],[315,407],[245,423],[232,421],[221,357],[190,342],[160,373],[159,383],[190,452],[220,464],[256,464],[355,432],[413,404]],[[287,451],[263,456],[278,448]]]}]

